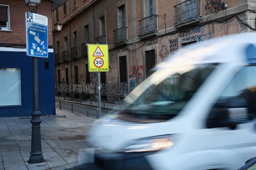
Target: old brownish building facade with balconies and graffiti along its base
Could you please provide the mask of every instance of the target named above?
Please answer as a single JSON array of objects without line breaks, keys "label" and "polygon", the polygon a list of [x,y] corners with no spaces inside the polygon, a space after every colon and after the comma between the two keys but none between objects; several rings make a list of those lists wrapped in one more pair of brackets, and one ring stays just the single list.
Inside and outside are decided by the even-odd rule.
[{"label": "old brownish building facade with balconies and graffiti along its base", "polygon": [[97,100],[87,44],[108,44],[101,99],[115,103],[187,44],[255,31],[255,10],[253,0],[68,0],[52,13],[53,23],[63,23],[53,29],[55,95]]}]

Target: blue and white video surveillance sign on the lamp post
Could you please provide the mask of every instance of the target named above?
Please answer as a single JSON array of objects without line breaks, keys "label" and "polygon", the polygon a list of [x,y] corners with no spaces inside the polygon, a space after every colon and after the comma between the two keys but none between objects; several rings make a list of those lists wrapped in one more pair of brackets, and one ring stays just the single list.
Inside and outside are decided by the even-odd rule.
[{"label": "blue and white video surveillance sign on the lamp post", "polygon": [[48,58],[48,18],[26,12],[27,55]]}]

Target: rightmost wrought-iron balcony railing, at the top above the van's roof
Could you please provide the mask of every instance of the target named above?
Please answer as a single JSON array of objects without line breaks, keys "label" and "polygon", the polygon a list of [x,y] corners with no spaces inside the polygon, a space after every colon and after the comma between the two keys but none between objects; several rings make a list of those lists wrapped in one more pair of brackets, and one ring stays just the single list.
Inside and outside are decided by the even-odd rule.
[{"label": "rightmost wrought-iron balcony railing, at the top above the van's roof", "polygon": [[174,6],[174,24],[200,17],[200,0],[187,0]]}]

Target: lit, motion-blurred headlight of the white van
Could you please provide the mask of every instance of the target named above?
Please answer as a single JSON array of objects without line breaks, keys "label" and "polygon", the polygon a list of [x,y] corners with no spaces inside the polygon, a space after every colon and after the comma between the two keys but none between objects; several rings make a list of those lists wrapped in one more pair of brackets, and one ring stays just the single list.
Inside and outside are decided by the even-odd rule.
[{"label": "lit, motion-blurred headlight of the white van", "polygon": [[155,152],[170,149],[173,146],[171,135],[141,138],[132,145],[125,147],[124,152]]}]

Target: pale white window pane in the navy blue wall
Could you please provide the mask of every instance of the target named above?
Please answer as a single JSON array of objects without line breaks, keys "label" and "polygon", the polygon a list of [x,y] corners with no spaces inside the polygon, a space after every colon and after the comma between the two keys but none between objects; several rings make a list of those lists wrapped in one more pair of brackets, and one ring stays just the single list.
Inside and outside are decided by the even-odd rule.
[{"label": "pale white window pane in the navy blue wall", "polygon": [[20,68],[0,68],[0,106],[21,105]]}]

